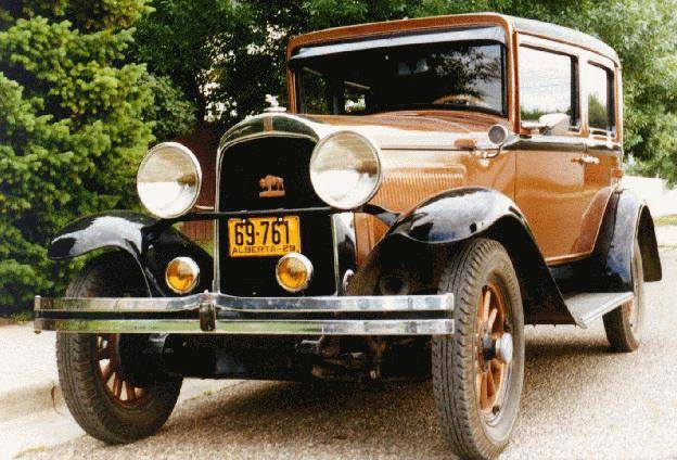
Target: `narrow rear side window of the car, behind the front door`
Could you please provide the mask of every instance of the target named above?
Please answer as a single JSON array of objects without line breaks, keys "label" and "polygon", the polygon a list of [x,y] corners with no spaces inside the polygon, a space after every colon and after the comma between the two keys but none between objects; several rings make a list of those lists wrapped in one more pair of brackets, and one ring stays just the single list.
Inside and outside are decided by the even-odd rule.
[{"label": "narrow rear side window of the car, behind the front door", "polygon": [[586,88],[588,89],[588,125],[590,131],[592,133],[613,132],[615,128],[613,73],[590,64]]}]

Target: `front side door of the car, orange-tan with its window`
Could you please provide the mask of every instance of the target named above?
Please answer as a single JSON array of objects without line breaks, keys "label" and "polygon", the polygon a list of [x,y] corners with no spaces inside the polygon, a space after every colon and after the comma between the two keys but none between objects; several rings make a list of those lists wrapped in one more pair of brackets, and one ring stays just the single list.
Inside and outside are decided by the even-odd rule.
[{"label": "front side door of the car, orange-tan with its window", "polygon": [[[540,44],[540,43],[538,43]],[[525,214],[546,260],[576,256],[584,215],[587,142],[579,116],[578,56],[565,49],[521,46],[520,116],[523,126],[546,114],[569,115],[557,132],[525,130],[515,145],[515,202]]]}]

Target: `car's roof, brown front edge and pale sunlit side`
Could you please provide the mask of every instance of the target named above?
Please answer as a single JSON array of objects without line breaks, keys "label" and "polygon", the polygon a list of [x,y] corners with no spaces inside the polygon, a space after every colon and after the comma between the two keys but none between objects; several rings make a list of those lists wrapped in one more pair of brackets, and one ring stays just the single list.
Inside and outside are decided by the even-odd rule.
[{"label": "car's roof, brown front edge and pale sunlit side", "polygon": [[423,29],[444,29],[457,26],[499,25],[506,30],[515,30],[550,40],[561,41],[593,51],[618,62],[616,52],[602,40],[555,24],[544,23],[523,17],[507,16],[498,13],[472,13],[446,16],[419,17],[411,20],[387,21],[382,23],[359,24],[312,31],[294,37],[289,44],[288,56],[299,47],[363,39],[372,36],[395,34],[398,31],[421,31]]}]

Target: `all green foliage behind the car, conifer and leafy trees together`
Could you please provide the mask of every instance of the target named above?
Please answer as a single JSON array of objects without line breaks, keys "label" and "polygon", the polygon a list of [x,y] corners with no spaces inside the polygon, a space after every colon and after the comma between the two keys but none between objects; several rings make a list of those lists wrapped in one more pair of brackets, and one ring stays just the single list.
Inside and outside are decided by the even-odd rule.
[{"label": "all green foliage behind the car, conifer and leafy trees together", "polygon": [[47,260],[50,235],[133,206],[154,138],[284,101],[289,39],[327,27],[497,11],[598,36],[623,62],[635,169],[677,182],[677,0],[149,1],[0,4],[0,312],[63,289],[71,266]]}]

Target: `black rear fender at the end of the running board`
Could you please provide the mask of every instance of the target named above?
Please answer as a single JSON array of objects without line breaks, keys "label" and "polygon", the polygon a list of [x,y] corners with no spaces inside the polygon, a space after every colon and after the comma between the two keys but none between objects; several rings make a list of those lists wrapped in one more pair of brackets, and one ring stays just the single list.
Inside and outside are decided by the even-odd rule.
[{"label": "black rear fender at the end of the running board", "polygon": [[573,282],[588,292],[631,291],[635,239],[642,257],[644,281],[660,281],[663,269],[651,212],[631,191],[617,190],[606,205],[592,254],[572,266]]}]

